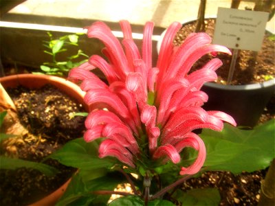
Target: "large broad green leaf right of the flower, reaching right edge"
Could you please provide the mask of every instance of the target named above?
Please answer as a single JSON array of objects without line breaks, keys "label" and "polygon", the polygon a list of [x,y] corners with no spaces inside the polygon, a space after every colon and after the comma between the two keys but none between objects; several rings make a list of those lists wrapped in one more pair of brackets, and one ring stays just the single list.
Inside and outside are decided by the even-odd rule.
[{"label": "large broad green leaf right of the flower, reaching right edge", "polygon": [[207,170],[228,170],[234,174],[253,172],[270,165],[275,158],[275,119],[253,130],[241,130],[229,124],[221,133],[203,130]]}]

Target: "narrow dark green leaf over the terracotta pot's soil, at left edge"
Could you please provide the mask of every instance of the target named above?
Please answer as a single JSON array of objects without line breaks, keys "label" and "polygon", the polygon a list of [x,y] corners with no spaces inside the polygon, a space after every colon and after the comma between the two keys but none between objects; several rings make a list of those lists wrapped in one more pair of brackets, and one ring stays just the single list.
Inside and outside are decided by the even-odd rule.
[{"label": "narrow dark green leaf over the terracotta pot's soil, at left edge", "polygon": [[33,168],[43,172],[48,176],[52,176],[58,172],[56,168],[51,167],[50,165],[46,165],[43,163],[37,163],[34,161],[27,161],[23,159],[13,159],[10,157],[0,156],[0,168],[6,170],[15,170],[17,168]]}]

